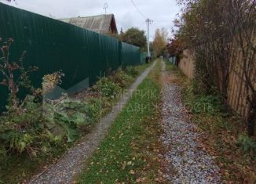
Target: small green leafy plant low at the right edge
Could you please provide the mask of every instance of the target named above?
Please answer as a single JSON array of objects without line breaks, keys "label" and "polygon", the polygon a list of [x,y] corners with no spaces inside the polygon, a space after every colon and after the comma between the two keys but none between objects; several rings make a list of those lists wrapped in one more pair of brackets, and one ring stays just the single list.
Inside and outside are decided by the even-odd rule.
[{"label": "small green leafy plant low at the right edge", "polygon": [[241,146],[244,153],[256,153],[256,143],[251,137],[239,135],[237,143]]}]

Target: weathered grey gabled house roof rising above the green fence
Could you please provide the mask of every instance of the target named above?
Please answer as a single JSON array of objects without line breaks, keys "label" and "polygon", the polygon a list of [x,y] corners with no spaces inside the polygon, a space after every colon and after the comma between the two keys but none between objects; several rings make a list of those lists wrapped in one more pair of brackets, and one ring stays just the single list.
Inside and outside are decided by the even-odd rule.
[{"label": "weathered grey gabled house roof rising above the green fence", "polygon": [[85,17],[79,16],[60,20],[101,34],[108,33],[109,31],[117,33],[115,16],[113,14]]}]

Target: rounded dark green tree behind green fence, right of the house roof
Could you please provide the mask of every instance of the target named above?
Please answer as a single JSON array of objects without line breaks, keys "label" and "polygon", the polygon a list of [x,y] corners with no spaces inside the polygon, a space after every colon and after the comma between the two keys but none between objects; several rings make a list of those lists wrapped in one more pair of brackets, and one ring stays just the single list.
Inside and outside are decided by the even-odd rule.
[{"label": "rounded dark green tree behind green fence, right of the house roof", "polygon": [[132,27],[123,34],[120,34],[120,40],[131,45],[136,45],[141,49],[145,49],[147,44],[145,32],[136,27]]}]

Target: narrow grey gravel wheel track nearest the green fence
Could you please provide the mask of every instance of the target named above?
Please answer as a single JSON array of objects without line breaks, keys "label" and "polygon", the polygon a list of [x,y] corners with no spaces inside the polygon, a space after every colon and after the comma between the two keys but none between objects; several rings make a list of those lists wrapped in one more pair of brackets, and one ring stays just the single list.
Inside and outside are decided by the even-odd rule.
[{"label": "narrow grey gravel wheel track nearest the green fence", "polygon": [[101,120],[101,123],[97,124],[93,129],[93,132],[90,132],[82,143],[76,145],[72,150],[69,150],[57,164],[54,164],[41,175],[36,176],[30,183],[71,183],[73,177],[82,171],[85,160],[90,157],[91,153],[93,153],[101,143],[101,140],[104,139],[112,121],[115,120],[115,117],[117,117],[128,99],[130,99],[133,91],[141,84],[141,81],[147,77],[154,66],[155,63],[144,70],[141,76],[137,78],[137,81],[130,86],[130,90],[126,90],[126,94],[124,94],[119,100],[119,103],[113,107],[112,112],[104,117],[104,119]]}]

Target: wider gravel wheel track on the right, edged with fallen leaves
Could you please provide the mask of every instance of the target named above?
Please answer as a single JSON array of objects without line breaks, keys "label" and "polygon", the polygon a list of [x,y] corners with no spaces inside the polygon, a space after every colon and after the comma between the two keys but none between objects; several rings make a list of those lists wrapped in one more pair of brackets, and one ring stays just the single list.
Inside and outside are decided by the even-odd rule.
[{"label": "wider gravel wheel track on the right, edged with fallen leaves", "polygon": [[188,121],[188,114],[181,104],[180,88],[174,85],[174,74],[168,74],[165,63],[162,68],[163,82],[163,144],[168,151],[166,178],[171,183],[221,183],[219,168],[214,158],[196,142],[199,132]]}]

